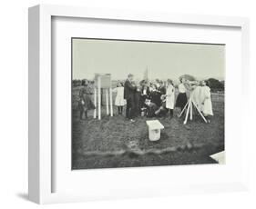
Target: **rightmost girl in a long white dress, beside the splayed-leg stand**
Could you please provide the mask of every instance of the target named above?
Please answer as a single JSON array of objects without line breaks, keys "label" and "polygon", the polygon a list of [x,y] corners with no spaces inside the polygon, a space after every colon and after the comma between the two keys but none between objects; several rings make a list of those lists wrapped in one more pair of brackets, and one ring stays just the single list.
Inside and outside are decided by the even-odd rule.
[{"label": "rightmost girl in a long white dress, beside the splayed-leg stand", "polygon": [[208,84],[208,81],[202,81],[201,83],[201,104],[202,104],[202,113],[208,120],[208,123],[210,123],[210,117],[213,115],[212,112],[212,104],[211,104],[211,98],[210,98],[210,87]]}]

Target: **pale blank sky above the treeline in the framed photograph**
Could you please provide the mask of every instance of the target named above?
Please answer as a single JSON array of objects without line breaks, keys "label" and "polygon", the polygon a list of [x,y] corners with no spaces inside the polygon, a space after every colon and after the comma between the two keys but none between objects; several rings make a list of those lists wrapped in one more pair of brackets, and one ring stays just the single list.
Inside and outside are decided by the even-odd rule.
[{"label": "pale blank sky above the treeline in the framed photograph", "polygon": [[224,80],[225,75],[225,45],[76,38],[72,50],[73,79],[93,79],[95,74],[143,79],[147,68],[151,80],[175,80],[184,74]]}]

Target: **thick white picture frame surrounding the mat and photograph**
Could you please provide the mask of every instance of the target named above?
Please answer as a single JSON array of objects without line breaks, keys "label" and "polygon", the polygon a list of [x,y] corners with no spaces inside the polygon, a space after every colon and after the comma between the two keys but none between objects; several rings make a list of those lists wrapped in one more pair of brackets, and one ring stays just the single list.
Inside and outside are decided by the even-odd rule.
[{"label": "thick white picture frame surrounding the mat and photograph", "polygon": [[[169,184],[158,184],[154,181],[150,187],[121,188],[118,185],[115,189],[108,188],[110,192],[100,193],[98,190],[89,193],[81,190],[71,193],[52,192],[54,190],[53,182],[56,181],[56,175],[53,171],[56,164],[53,162],[54,155],[52,143],[52,17],[66,18],[89,18],[98,21],[108,19],[116,21],[132,21],[145,24],[176,24],[176,25],[202,25],[202,26],[223,26],[241,28],[241,100],[249,101],[251,92],[249,86],[249,20],[244,17],[227,17],[211,15],[174,15],[159,14],[135,11],[103,10],[84,7],[73,7],[63,5],[36,5],[29,8],[29,171],[28,171],[28,194],[29,199],[37,204],[52,204],[74,201],[87,201],[97,199],[129,198],[139,196],[155,196],[169,194],[188,194],[205,192],[223,192],[223,191],[241,191],[248,188],[248,154],[247,146],[250,144],[247,128],[250,128],[249,115],[241,116],[241,130],[238,135],[242,143],[241,162],[238,165],[241,174],[236,181],[223,182],[219,179],[211,183],[201,184],[176,184],[170,187]],[[241,107],[246,110],[245,106]],[[242,111],[241,110],[241,111]],[[239,136],[237,136],[239,137]],[[71,156],[70,156],[71,157]],[[220,165],[225,166],[225,165]],[[151,174],[153,169],[162,169],[161,167],[148,168],[141,170],[138,168],[129,169],[136,173]],[[204,169],[204,168],[202,168]],[[209,167],[205,167],[209,169]],[[139,170],[139,171],[138,171]],[[182,172],[182,169],[179,169]],[[126,170],[127,171],[127,170]],[[91,171],[90,176],[96,172],[97,176],[101,174],[98,171]],[[118,170],[118,174],[122,173]],[[179,173],[178,172],[178,173]],[[115,175],[116,170],[111,170],[109,174]],[[83,175],[87,175],[84,173]],[[92,179],[96,181],[96,179]],[[65,186],[65,185],[63,185]],[[100,188],[97,187],[97,188]],[[151,188],[148,189],[148,188]],[[68,188],[67,188],[68,190]]]}]

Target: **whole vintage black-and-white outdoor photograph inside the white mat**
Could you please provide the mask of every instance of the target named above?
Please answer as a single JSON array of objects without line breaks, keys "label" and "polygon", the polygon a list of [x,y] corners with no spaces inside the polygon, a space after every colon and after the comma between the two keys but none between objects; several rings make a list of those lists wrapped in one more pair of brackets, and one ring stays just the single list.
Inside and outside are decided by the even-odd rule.
[{"label": "whole vintage black-and-white outdoor photograph inside the white mat", "polygon": [[72,37],[72,169],[225,164],[225,45]]}]

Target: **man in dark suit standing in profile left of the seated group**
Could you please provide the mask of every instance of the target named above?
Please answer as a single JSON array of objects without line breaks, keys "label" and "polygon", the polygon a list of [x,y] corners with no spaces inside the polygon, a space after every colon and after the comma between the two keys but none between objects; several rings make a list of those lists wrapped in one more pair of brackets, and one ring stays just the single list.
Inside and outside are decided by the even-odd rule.
[{"label": "man in dark suit standing in profile left of the seated group", "polygon": [[137,86],[132,84],[133,75],[129,74],[128,79],[125,82],[125,92],[124,97],[127,100],[127,111],[126,117],[134,122],[133,117],[135,114],[135,93],[137,91]]}]

